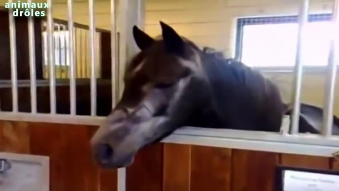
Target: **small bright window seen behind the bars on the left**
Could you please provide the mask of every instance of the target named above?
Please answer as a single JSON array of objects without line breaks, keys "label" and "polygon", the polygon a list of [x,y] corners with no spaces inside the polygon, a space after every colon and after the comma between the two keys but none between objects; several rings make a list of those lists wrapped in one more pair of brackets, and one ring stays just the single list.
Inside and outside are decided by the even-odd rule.
[{"label": "small bright window seen behind the bars on the left", "polygon": [[[69,61],[67,57],[67,49],[69,47],[69,32],[68,31],[54,31],[53,40],[54,40],[54,60],[56,66],[69,66]],[[48,39],[47,32],[42,32],[43,39],[43,54],[44,54],[44,64],[48,65]]]}]

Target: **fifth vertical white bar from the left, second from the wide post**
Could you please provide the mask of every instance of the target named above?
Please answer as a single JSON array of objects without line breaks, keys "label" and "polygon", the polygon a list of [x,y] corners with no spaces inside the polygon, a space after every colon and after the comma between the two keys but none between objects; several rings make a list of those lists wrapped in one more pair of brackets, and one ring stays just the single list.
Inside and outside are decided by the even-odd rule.
[{"label": "fifth vertical white bar from the left, second from the wide post", "polygon": [[94,2],[89,0],[89,42],[90,42],[90,103],[92,116],[96,115],[96,78],[95,78],[95,23],[94,23]]}]

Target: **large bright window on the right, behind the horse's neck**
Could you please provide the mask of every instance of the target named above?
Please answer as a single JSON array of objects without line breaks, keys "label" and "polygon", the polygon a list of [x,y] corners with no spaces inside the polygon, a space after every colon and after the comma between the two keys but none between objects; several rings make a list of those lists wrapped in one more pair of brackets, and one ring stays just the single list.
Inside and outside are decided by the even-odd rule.
[{"label": "large bright window on the right, behind the horse's neck", "polygon": [[[305,26],[306,66],[326,66],[331,14],[309,15]],[[297,52],[297,16],[240,18],[236,58],[251,67],[293,67]]]}]

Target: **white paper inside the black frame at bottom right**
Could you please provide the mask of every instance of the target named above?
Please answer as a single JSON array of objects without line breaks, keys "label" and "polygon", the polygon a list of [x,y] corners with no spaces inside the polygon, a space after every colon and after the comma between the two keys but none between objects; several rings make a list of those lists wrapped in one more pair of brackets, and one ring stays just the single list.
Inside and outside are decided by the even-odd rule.
[{"label": "white paper inside the black frame at bottom right", "polygon": [[339,191],[339,175],[284,171],[284,191]]}]

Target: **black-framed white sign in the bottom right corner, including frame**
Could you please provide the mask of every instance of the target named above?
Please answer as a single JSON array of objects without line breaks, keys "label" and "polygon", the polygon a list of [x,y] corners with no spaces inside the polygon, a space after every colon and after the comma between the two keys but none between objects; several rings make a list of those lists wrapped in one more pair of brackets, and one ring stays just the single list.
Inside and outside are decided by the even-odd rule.
[{"label": "black-framed white sign in the bottom right corner, including frame", "polygon": [[274,191],[339,191],[339,171],[277,166]]}]

